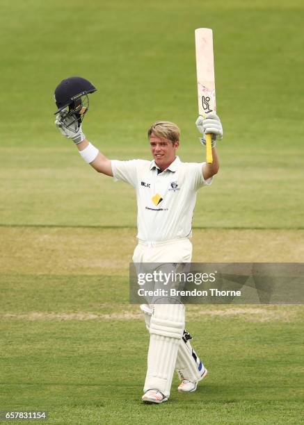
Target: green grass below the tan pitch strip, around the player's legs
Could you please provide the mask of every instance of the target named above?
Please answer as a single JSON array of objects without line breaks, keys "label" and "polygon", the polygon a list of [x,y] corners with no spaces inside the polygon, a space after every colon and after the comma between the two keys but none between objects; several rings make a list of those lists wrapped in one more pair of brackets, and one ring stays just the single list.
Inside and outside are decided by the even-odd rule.
[{"label": "green grass below the tan pitch strip, around the player's legs", "polygon": [[156,423],[163,415],[170,424],[300,420],[299,307],[241,307],[241,315],[233,306],[209,306],[208,315],[200,315],[206,306],[189,307],[209,376],[193,394],[178,394],[175,378],[168,405],[142,406],[147,333],[138,307],[125,302],[127,278],[17,275],[2,282],[1,410],[44,408],[50,423],[62,424],[139,424],[147,416]]}]

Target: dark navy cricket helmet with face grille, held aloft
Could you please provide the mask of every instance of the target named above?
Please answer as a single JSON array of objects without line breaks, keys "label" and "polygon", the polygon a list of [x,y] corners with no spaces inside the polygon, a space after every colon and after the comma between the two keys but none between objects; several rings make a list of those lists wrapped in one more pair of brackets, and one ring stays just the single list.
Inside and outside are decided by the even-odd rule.
[{"label": "dark navy cricket helmet with face grille, held aloft", "polygon": [[79,76],[65,78],[55,89],[54,100],[58,108],[55,115],[66,109],[65,117],[73,115],[74,118],[69,128],[72,130],[72,124],[76,121],[80,126],[84,115],[88,112],[88,94],[96,90],[97,88],[86,78]]}]

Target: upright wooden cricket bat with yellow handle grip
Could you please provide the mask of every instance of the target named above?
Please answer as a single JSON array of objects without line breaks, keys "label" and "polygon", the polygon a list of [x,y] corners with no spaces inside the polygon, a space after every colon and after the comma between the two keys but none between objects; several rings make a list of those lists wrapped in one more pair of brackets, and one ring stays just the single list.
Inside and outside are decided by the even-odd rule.
[{"label": "upright wooden cricket bat with yellow handle grip", "polygon": [[[205,117],[216,111],[216,86],[214,81],[214,50],[212,30],[195,29],[196,75],[198,78],[198,113]],[[206,135],[206,160],[212,163],[211,134]]]}]

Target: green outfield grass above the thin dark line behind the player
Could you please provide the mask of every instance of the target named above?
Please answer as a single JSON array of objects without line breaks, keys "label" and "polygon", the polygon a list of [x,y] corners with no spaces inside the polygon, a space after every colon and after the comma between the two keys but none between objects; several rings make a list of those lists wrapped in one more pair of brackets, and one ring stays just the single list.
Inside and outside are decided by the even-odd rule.
[{"label": "green outfield grass above the thin dark line behind the player", "polygon": [[225,137],[193,224],[303,228],[302,12],[296,0],[4,2],[0,224],[135,226],[131,188],[98,178],[56,131],[54,88],[95,83],[83,128],[109,158],[150,158],[146,129],[169,119],[182,159],[202,161],[193,29],[211,26]]}]

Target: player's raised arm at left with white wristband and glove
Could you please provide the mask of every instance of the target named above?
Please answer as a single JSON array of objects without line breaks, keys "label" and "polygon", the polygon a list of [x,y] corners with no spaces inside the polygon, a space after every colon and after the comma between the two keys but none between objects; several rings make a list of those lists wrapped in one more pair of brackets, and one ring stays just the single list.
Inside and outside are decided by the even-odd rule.
[{"label": "player's raised arm at left with white wristband and glove", "polygon": [[111,160],[106,158],[99,150],[93,146],[82,132],[81,124],[77,123],[75,117],[65,116],[65,111],[56,115],[56,127],[67,139],[72,139],[83,160],[90,164],[97,172],[113,176]]}]

